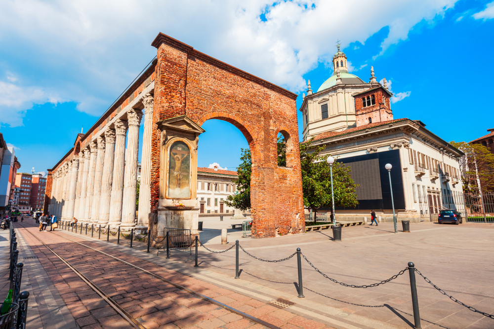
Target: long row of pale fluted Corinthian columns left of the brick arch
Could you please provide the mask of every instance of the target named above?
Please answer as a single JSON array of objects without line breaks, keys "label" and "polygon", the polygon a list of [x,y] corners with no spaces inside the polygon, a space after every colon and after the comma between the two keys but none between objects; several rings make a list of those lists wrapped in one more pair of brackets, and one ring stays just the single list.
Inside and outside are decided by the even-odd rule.
[{"label": "long row of pale fluted Corinthian columns left of the brick arch", "polygon": [[[142,99],[142,110],[130,108],[52,173],[50,215],[82,223],[148,227],[150,212],[153,96]],[[136,220],[139,127],[144,114],[143,154]],[[125,140],[127,145],[125,147]]]}]

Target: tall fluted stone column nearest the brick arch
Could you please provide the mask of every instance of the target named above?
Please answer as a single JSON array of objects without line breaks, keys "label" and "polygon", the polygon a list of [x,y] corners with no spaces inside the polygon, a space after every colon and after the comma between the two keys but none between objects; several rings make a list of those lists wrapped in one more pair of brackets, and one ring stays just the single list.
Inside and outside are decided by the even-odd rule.
[{"label": "tall fluted stone column nearest the brick arch", "polygon": [[142,137],[141,181],[139,182],[139,215],[137,228],[148,229],[149,213],[151,212],[151,140],[153,136],[154,99],[147,94],[142,100],[144,105],[144,135]]}]

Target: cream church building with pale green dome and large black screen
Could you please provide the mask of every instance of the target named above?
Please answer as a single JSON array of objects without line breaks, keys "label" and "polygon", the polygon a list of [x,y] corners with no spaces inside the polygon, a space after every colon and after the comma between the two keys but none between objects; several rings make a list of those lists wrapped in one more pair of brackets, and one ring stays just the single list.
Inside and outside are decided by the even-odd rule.
[{"label": "cream church building with pale green dome and large black screen", "polygon": [[[303,98],[303,140],[326,146],[323,154],[352,168],[359,184],[356,208],[336,208],[337,219],[355,219],[374,210],[392,220],[388,171],[398,219],[430,219],[442,208],[463,210],[459,158],[463,153],[429,131],[420,120],[395,119],[392,93],[371,68],[369,82],[348,73],[346,55],[333,57],[334,74]],[[329,211],[323,208],[322,212]]]}]

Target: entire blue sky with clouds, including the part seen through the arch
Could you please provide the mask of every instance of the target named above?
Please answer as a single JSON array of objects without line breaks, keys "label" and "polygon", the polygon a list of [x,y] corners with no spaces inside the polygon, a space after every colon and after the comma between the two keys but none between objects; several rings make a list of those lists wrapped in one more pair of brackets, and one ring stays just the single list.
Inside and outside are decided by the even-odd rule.
[{"label": "entire blue sky with clouds, including the part seen through the arch", "polygon": [[[391,81],[395,118],[420,119],[446,141],[494,128],[492,1],[189,2],[152,12],[143,9],[152,1],[2,5],[0,132],[21,171],[56,164],[155,56],[158,32],[300,95],[307,80],[317,90],[332,75],[340,39],[351,73],[367,81],[373,66]],[[203,128],[199,166],[235,170],[244,136],[219,120]]]}]

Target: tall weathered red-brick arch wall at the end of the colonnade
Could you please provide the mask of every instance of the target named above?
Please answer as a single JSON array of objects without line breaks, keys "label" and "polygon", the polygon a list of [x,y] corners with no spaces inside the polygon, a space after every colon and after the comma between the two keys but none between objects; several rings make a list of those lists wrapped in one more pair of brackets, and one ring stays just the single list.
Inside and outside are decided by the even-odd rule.
[{"label": "tall weathered red-brick arch wall at the end of the colonnade", "polygon": [[[160,34],[153,122],[186,115],[202,125],[221,119],[239,128],[251,148],[251,213],[254,237],[304,231],[298,156],[297,95]],[[156,125],[155,125],[156,127]],[[276,138],[290,136],[290,166],[278,167]],[[152,211],[160,191],[160,131],[152,143]]]}]

